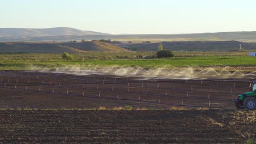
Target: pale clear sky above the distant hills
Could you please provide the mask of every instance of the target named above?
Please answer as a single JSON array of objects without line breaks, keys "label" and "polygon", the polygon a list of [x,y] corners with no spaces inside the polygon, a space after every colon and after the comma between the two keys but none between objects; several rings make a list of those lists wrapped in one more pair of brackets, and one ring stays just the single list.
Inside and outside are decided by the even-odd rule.
[{"label": "pale clear sky above the distant hills", "polygon": [[0,28],[111,34],[256,31],[255,0],[0,0]]}]

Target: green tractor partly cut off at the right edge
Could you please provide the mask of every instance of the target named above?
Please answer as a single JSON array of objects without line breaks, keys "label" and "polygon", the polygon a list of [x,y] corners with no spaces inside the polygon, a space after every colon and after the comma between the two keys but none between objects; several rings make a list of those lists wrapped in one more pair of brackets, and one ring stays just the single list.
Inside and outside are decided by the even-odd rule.
[{"label": "green tractor partly cut off at the right edge", "polygon": [[238,95],[235,104],[237,109],[256,110],[256,81],[253,82],[252,92]]}]

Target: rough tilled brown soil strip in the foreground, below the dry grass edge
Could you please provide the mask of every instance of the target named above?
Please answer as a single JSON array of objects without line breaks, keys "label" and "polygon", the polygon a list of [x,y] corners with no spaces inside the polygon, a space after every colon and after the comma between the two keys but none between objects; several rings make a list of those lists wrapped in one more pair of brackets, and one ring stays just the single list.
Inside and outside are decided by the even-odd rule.
[{"label": "rough tilled brown soil strip in the foreground, below the dry grass edge", "polygon": [[255,113],[220,109],[0,110],[0,142],[245,143],[256,137]]}]

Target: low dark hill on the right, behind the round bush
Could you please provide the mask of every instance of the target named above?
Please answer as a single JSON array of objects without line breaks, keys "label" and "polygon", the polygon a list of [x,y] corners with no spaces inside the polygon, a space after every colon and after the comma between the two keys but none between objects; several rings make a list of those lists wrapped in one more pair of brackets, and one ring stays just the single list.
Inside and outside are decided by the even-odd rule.
[{"label": "low dark hill on the right, behind the round bush", "polygon": [[[164,49],[172,51],[235,51],[242,45],[245,50],[256,51],[256,45],[240,41],[164,41]],[[122,47],[135,51],[158,51],[159,43],[126,44]]]}]

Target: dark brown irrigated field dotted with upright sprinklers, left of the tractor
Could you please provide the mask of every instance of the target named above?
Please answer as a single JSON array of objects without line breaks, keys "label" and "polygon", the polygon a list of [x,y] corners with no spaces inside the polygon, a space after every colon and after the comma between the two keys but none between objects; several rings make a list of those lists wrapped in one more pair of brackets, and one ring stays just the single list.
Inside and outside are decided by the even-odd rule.
[{"label": "dark brown irrigated field dotted with upright sprinklers, left of the tractor", "polygon": [[72,75],[40,71],[1,71],[2,108],[96,106],[163,109],[170,106],[234,107],[254,77],[243,79],[157,79],[110,75]]}]

